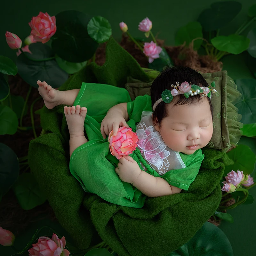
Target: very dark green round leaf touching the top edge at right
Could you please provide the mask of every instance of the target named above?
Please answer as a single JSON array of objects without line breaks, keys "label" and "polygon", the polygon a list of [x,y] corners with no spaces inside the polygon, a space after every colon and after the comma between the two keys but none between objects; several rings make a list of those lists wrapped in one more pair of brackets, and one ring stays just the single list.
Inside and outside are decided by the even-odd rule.
[{"label": "very dark green round leaf touching the top edge at right", "polygon": [[225,1],[211,4],[211,8],[204,10],[198,21],[204,31],[223,28],[241,11],[242,4],[236,1]]}]

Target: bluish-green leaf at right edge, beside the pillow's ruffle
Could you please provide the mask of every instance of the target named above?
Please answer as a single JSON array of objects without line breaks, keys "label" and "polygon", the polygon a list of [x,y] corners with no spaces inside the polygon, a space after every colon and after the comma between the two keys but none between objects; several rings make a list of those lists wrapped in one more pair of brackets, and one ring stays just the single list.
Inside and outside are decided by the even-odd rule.
[{"label": "bluish-green leaf at right edge, beside the pillow's ruffle", "polygon": [[256,80],[238,79],[235,81],[237,90],[242,97],[236,103],[238,113],[242,115],[241,122],[244,124],[256,123]]}]

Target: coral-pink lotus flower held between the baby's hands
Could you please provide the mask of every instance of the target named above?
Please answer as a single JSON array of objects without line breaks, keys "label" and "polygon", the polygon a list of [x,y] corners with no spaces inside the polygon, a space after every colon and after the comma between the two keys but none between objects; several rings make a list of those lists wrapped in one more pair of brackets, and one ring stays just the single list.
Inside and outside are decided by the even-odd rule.
[{"label": "coral-pink lotus flower held between the baby's hands", "polygon": [[132,132],[132,128],[122,126],[119,127],[116,136],[113,135],[113,130],[109,133],[108,141],[111,154],[120,159],[135,150],[139,139],[136,132]]}]

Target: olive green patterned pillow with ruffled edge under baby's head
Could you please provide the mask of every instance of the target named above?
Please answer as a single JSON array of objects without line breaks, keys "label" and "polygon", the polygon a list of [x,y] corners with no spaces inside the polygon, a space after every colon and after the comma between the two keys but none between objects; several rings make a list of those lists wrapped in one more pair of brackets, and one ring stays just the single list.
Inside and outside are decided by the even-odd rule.
[{"label": "olive green patterned pillow with ruffled edge under baby's head", "polygon": [[[242,135],[240,128],[243,126],[239,122],[242,116],[237,113],[238,109],[234,106],[241,97],[241,93],[237,91],[236,84],[227,74],[227,71],[202,74],[209,85],[215,81],[215,89],[217,90],[215,94],[212,94],[211,98],[213,135],[206,147],[224,151],[238,143]],[[131,99],[134,100],[139,95],[150,95],[151,84],[152,82],[144,83],[128,77],[125,88],[129,92]]]}]

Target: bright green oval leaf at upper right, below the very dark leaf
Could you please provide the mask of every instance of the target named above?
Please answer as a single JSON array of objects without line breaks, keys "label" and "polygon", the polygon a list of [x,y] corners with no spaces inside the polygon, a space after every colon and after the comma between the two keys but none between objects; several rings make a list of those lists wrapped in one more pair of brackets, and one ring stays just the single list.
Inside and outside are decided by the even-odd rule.
[{"label": "bright green oval leaf at upper right, below the very dark leaf", "polygon": [[229,52],[232,54],[239,54],[248,49],[250,39],[246,36],[229,35],[217,36],[212,38],[212,45],[219,51]]}]

